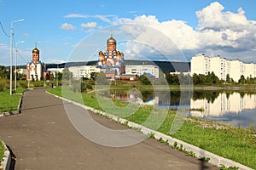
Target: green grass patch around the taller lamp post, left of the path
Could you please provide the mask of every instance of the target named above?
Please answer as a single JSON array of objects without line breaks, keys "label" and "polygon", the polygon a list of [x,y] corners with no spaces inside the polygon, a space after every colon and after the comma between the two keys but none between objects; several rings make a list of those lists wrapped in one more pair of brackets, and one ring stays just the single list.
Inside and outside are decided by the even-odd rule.
[{"label": "green grass patch around the taller lamp post, left of the path", "polygon": [[0,112],[17,111],[20,97],[25,88],[17,88],[16,94],[9,95],[9,89],[0,92]]}]

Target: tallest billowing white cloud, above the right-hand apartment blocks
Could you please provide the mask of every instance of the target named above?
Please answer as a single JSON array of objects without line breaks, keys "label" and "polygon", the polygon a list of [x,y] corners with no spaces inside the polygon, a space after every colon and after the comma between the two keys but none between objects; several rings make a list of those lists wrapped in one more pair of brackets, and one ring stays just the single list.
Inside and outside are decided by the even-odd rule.
[{"label": "tallest billowing white cloud, above the right-hand apartment blocks", "polygon": [[247,20],[245,11],[225,12],[220,3],[211,3],[196,12],[199,40],[204,48],[224,48],[224,50],[250,50],[255,47],[256,22]]}]

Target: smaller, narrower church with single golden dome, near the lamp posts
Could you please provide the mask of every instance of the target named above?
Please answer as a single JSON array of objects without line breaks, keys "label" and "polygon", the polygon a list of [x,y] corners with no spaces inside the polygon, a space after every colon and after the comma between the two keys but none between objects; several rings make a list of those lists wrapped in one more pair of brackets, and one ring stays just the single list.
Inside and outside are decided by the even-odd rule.
[{"label": "smaller, narrower church with single golden dome, near the lamp posts", "polygon": [[40,61],[40,51],[36,47],[32,50],[32,61],[26,65],[26,80],[40,81],[43,80],[44,64]]}]

